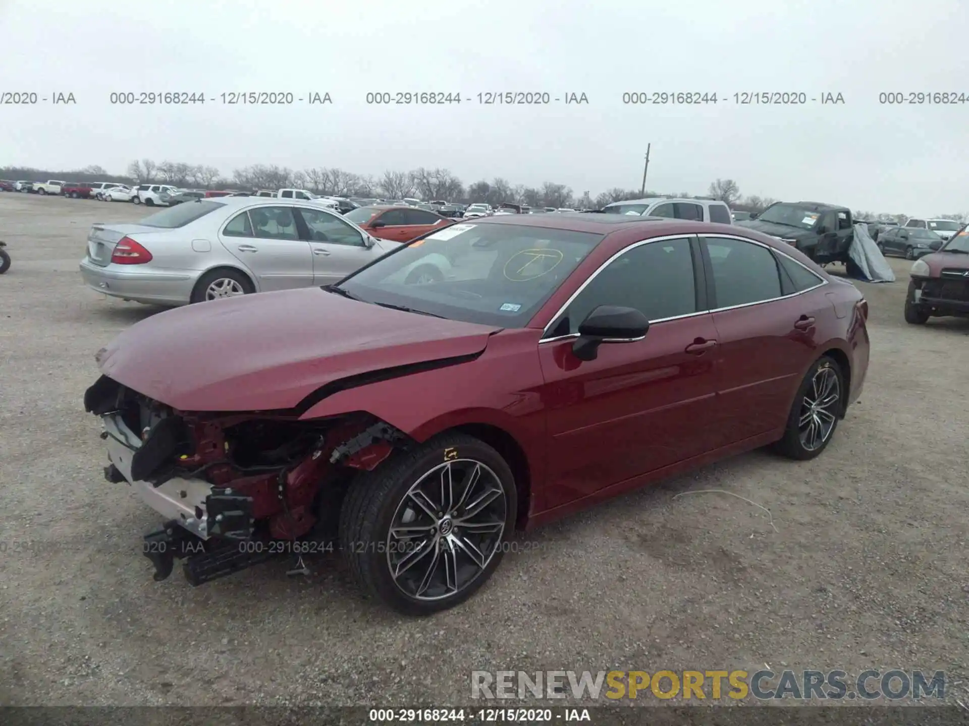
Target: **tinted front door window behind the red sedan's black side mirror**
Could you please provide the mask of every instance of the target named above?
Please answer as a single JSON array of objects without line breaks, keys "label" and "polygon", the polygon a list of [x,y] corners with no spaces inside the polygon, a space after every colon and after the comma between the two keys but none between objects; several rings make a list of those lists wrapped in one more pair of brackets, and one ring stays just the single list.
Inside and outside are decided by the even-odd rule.
[{"label": "tinted front door window behind the red sedan's black side mirror", "polygon": [[578,293],[550,335],[577,333],[600,305],[635,308],[650,320],[696,313],[689,240],[650,242],[617,257]]}]

